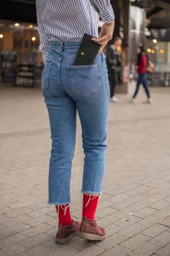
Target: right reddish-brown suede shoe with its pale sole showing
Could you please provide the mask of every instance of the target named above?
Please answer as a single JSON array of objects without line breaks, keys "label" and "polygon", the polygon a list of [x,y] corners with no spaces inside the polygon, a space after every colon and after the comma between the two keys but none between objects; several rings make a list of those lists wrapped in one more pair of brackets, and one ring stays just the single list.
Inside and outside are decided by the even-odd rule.
[{"label": "right reddish-brown suede shoe with its pale sole showing", "polygon": [[82,223],[77,236],[91,241],[101,241],[105,238],[105,230],[99,227],[96,220],[82,217]]}]

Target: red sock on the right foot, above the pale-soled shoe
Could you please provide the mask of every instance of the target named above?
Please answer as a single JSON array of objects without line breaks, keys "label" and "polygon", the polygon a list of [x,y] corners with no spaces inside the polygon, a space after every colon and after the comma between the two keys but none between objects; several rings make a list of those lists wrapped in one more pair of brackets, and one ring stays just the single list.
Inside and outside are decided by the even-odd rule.
[{"label": "red sock on the right foot, above the pale-soled shoe", "polygon": [[83,194],[82,200],[82,217],[87,219],[95,219],[96,208],[98,205],[99,195]]}]

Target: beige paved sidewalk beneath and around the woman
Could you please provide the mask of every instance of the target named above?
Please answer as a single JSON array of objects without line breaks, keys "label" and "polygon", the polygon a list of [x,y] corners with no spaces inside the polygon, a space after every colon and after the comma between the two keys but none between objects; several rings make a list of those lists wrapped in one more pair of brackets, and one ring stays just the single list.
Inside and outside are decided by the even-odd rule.
[{"label": "beige paved sidewalk beneath and around the woman", "polygon": [[[96,219],[107,238],[55,244],[57,214],[47,205],[50,130],[40,89],[0,87],[0,256],[170,256],[170,89],[152,105],[128,96],[110,103],[107,166]],[[69,131],[68,131],[69,132]],[[82,142],[72,168],[74,219],[81,219]]]}]

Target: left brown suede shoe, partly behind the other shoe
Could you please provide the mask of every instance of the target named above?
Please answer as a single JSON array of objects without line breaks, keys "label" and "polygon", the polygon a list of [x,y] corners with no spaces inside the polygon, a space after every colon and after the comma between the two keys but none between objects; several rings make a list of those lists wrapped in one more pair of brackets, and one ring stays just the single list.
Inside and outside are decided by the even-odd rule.
[{"label": "left brown suede shoe, partly behind the other shoe", "polygon": [[58,223],[58,232],[55,237],[55,242],[58,244],[66,244],[80,229],[80,222],[73,220],[72,224],[63,226]]}]

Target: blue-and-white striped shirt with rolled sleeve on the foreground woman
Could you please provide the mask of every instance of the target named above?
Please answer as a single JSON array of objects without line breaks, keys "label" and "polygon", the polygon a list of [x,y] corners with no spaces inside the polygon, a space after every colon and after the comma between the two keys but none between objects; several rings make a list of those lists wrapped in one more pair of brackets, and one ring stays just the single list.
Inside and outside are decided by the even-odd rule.
[{"label": "blue-and-white striped shirt with rolled sleeve on the foreground woman", "polygon": [[98,37],[98,20],[114,20],[110,0],[36,0],[40,37],[39,49],[45,61],[50,40],[80,42],[83,34]]}]

